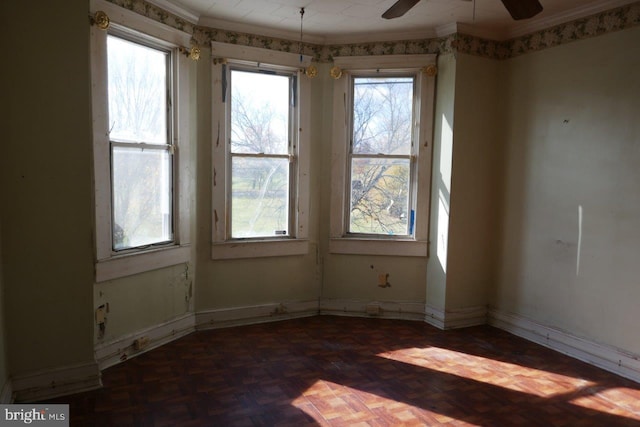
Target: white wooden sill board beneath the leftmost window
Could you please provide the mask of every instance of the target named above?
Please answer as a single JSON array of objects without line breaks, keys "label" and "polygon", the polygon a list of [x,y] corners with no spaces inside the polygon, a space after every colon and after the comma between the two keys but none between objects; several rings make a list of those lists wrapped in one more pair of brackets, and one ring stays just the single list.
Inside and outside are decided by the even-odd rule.
[{"label": "white wooden sill board beneath the leftmost window", "polygon": [[189,262],[191,259],[189,246],[171,246],[145,252],[116,255],[96,262],[96,282],[119,279],[157,270],[176,264]]}]

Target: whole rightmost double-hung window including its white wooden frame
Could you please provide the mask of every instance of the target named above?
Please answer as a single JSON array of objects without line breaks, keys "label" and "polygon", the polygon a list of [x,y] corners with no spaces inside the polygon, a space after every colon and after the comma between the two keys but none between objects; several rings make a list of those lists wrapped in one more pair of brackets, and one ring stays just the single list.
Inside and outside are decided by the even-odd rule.
[{"label": "whole rightmost double-hung window including its white wooden frame", "polygon": [[434,61],[335,59],[331,252],[426,256]]}]

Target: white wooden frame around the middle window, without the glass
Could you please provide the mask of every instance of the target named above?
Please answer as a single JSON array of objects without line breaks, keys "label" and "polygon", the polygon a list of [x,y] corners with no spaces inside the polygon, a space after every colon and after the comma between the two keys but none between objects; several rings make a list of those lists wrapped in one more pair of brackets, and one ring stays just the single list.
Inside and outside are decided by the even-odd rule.
[{"label": "white wooden frame around the middle window, without the glass", "polygon": [[[249,46],[211,43],[212,65],[212,244],[211,258],[236,259],[272,256],[303,255],[309,252],[309,165],[310,165],[310,96],[311,83],[304,69],[311,57],[277,52]],[[232,239],[230,230],[231,200],[228,191],[230,132],[228,105],[223,101],[223,68],[229,64],[282,69],[297,73],[297,161],[293,177],[296,185],[291,197],[294,215],[289,236],[250,239]],[[230,102],[229,90],[225,99]]]}]

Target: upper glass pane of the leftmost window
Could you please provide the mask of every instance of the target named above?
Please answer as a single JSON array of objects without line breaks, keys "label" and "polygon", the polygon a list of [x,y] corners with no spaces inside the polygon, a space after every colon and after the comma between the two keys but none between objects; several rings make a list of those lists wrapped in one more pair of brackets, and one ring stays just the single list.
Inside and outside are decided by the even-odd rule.
[{"label": "upper glass pane of the leftmost window", "polygon": [[167,143],[167,52],[107,38],[110,139]]}]

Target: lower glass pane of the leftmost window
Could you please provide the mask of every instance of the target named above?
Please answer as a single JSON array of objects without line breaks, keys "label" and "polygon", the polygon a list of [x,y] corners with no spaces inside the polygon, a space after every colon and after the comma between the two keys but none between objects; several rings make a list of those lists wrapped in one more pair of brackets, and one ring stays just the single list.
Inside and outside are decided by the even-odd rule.
[{"label": "lower glass pane of the leftmost window", "polygon": [[113,147],[113,248],[173,240],[171,155]]}]

